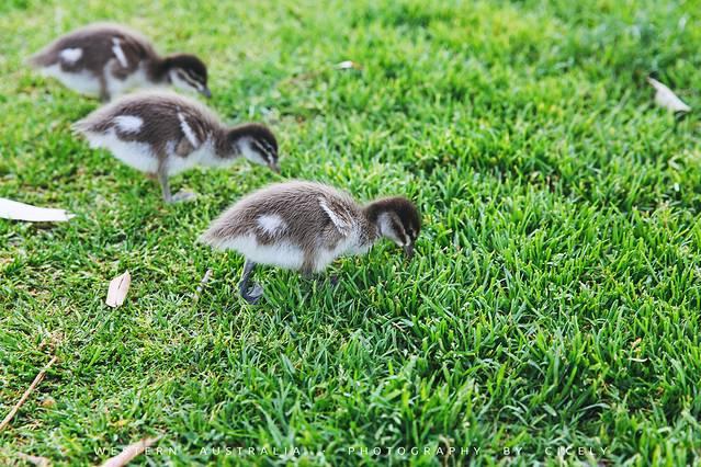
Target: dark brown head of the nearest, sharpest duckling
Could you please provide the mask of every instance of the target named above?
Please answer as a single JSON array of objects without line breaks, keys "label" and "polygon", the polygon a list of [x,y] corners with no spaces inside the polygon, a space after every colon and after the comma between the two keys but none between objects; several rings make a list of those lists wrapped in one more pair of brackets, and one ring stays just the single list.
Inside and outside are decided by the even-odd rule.
[{"label": "dark brown head of the nearest, sharpest duckling", "polygon": [[421,216],[414,203],[403,196],[386,197],[368,205],[365,213],[381,237],[404,248],[408,258],[414,257],[414,244],[421,231]]}]

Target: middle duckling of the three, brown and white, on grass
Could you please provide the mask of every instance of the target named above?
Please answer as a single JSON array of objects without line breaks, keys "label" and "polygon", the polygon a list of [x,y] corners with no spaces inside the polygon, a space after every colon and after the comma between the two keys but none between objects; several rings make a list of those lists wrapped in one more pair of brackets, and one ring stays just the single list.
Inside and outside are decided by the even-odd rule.
[{"label": "middle duckling of the three, brown and white, on grass", "polygon": [[280,172],[278,141],[265,126],[227,128],[197,101],[172,92],[125,95],[77,122],[74,129],[91,147],[106,148],[127,166],[158,179],[166,203],[193,196],[171,196],[168,178],[196,164],[227,166],[242,156]]}]

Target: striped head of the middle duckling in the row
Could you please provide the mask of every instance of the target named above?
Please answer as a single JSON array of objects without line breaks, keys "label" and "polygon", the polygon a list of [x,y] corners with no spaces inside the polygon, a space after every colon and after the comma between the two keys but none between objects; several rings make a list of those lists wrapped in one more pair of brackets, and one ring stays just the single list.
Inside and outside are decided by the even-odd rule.
[{"label": "striped head of the middle duckling in the row", "polygon": [[228,139],[235,152],[280,173],[278,140],[265,125],[249,123],[237,126],[229,130]]}]

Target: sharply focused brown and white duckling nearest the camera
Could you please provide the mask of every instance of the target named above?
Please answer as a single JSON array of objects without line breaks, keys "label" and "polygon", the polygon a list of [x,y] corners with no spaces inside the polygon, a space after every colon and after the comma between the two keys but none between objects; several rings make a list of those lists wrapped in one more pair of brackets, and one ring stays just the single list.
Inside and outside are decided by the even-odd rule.
[{"label": "sharply focused brown and white duckling nearest the camera", "polygon": [[342,254],[361,254],[380,238],[388,238],[410,258],[421,229],[416,206],[395,196],[360,206],[347,193],[313,182],[267,186],[235,203],[200,241],[231,249],[246,258],[239,283],[241,296],[256,304],[260,285],[248,289],[256,264],[323,271]]}]

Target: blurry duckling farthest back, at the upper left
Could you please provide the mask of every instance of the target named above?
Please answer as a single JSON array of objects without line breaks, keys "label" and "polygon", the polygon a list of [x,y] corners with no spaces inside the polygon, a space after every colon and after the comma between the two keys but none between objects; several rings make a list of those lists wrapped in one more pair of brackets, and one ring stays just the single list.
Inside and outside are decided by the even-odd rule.
[{"label": "blurry duckling farthest back, at the upper left", "polygon": [[173,84],[210,98],[207,68],[194,55],[159,56],[150,41],[118,24],[95,23],[75,30],[32,56],[44,76],[102,101],[134,88]]}]

